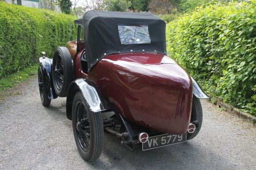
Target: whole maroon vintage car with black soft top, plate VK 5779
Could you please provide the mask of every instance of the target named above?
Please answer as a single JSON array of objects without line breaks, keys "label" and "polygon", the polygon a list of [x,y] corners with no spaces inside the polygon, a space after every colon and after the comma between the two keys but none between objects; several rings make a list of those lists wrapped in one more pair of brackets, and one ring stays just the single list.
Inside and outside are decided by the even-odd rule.
[{"label": "whole maroon vintage car with black soft top, plate VK 5779", "polygon": [[39,58],[42,105],[67,97],[77,149],[97,159],[103,132],[142,150],[185,142],[202,125],[208,96],[166,57],[165,23],[151,13],[88,11],[75,20],[77,40]]}]

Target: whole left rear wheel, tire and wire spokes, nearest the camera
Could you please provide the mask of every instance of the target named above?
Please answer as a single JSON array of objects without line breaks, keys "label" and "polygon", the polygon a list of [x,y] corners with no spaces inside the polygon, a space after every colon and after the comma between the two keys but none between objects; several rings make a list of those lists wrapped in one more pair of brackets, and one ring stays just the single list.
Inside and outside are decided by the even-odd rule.
[{"label": "whole left rear wheel, tire and wire spokes, nearest the camera", "polygon": [[72,106],[72,126],[77,149],[84,160],[97,159],[102,151],[103,124],[101,113],[91,112],[80,91]]}]

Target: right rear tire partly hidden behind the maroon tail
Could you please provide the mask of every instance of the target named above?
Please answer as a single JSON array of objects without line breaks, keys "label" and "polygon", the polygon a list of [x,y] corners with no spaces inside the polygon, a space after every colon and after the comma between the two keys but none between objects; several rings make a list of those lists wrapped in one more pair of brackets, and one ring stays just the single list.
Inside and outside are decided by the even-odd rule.
[{"label": "right rear tire partly hidden behind the maroon tail", "polygon": [[193,95],[190,122],[193,122],[195,120],[198,120],[198,124],[196,125],[196,130],[194,133],[187,133],[187,140],[191,140],[198,135],[203,122],[203,111],[202,111],[200,99],[198,99],[195,95]]}]

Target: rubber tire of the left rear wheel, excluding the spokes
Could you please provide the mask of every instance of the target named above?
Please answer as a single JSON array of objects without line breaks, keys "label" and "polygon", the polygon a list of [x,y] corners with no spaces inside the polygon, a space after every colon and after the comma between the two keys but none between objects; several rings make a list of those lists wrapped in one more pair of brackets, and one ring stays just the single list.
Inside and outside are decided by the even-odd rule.
[{"label": "rubber tire of the left rear wheel, excluding the spokes", "polygon": [[[89,118],[89,124],[90,124],[90,147],[87,152],[83,151],[81,149],[81,146],[78,141],[78,136],[77,136],[77,130],[76,130],[76,112],[75,112],[75,106],[78,101],[82,101],[84,106],[86,106],[86,111],[88,113],[88,118]],[[83,96],[80,91],[78,91],[73,100],[73,106],[72,106],[72,126],[73,126],[73,132],[74,132],[74,137],[76,141],[76,146],[77,149],[81,155],[81,157],[84,160],[87,161],[94,161],[99,158],[101,155],[102,151],[102,146],[103,146],[103,123],[102,123],[102,117],[101,117],[101,112],[93,113],[90,111],[88,105],[83,99]]]}]

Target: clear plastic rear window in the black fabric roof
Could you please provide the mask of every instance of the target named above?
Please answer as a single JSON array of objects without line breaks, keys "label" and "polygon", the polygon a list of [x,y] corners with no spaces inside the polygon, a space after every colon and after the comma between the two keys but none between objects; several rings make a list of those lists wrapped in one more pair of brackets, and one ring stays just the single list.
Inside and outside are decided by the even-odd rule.
[{"label": "clear plastic rear window in the black fabric roof", "polygon": [[147,26],[118,26],[121,44],[150,44]]}]

